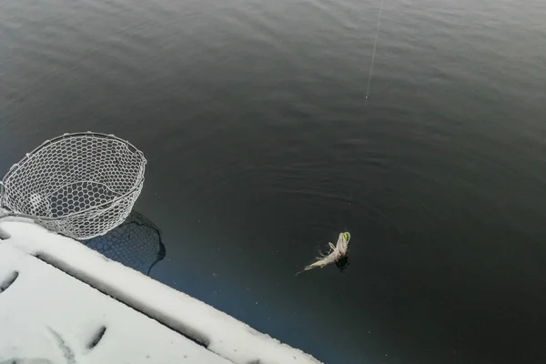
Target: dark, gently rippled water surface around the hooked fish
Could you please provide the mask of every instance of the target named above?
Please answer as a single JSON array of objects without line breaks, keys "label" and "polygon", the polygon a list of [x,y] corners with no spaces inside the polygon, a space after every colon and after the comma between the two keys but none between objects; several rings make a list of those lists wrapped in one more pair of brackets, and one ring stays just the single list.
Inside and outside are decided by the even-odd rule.
[{"label": "dark, gently rippled water surface around the hooked fish", "polygon": [[365,106],[378,11],[0,2],[0,167],[125,137],[152,277],[327,363],[544,363],[546,2],[385,0]]}]

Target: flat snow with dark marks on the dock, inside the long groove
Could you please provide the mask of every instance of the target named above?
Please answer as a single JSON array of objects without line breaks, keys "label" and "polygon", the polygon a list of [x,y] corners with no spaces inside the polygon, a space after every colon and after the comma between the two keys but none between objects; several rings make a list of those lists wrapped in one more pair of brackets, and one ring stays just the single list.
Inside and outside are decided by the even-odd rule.
[{"label": "flat snow with dark marks on the dock, inside the long groove", "polygon": [[230,361],[0,240],[0,363]]}]

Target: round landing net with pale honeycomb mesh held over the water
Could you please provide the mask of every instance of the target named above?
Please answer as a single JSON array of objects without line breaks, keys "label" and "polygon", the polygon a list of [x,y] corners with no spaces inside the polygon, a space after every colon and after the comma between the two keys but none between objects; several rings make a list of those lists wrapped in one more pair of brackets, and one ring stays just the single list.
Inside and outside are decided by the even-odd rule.
[{"label": "round landing net with pale honeycomb mesh held over the water", "polygon": [[2,206],[70,238],[95,238],[129,215],[145,166],[142,152],[116,136],[66,134],[10,169]]}]

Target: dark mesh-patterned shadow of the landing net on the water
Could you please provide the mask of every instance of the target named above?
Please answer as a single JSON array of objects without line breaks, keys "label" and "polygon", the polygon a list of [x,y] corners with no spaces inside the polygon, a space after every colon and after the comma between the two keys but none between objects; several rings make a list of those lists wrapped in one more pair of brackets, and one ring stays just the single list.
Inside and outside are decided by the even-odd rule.
[{"label": "dark mesh-patterned shadow of the landing net on the water", "polygon": [[159,228],[135,210],[131,211],[123,224],[106,235],[82,243],[106,258],[146,275],[166,255]]}]

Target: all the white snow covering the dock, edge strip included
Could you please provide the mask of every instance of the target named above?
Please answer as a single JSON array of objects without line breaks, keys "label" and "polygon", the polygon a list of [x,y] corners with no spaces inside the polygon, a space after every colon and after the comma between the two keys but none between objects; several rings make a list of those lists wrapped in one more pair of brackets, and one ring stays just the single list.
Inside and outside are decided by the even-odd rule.
[{"label": "all the white snow covering the dock, edge strip included", "polygon": [[0,220],[0,237],[9,237],[0,240],[0,292],[19,272],[0,293],[0,337],[8,338],[0,340],[0,363],[319,363],[28,221]]}]

